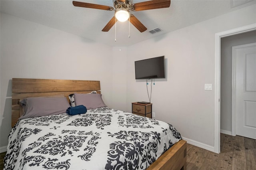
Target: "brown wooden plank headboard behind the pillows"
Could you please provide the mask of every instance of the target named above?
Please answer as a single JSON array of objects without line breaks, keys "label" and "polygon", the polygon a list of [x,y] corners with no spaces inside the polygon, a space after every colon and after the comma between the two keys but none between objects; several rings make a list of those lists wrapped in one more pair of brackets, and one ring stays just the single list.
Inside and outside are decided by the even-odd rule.
[{"label": "brown wooden plank headboard behind the pillows", "polygon": [[64,95],[72,93],[100,93],[100,81],[58,79],[12,79],[12,127],[22,115],[20,100],[27,97]]}]

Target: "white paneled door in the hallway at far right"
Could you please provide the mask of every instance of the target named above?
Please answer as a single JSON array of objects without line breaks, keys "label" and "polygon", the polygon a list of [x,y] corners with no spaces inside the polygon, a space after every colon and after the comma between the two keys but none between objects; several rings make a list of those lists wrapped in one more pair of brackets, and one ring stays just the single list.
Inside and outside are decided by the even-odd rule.
[{"label": "white paneled door in the hallway at far right", "polygon": [[236,134],[256,139],[256,43],[232,47],[232,64]]}]

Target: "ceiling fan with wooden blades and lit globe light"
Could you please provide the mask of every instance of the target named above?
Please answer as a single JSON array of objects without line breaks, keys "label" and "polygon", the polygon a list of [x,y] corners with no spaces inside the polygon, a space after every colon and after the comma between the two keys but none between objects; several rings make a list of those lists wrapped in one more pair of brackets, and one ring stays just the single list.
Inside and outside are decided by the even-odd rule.
[{"label": "ceiling fan with wooden blades and lit globe light", "polygon": [[114,17],[102,29],[103,32],[108,32],[110,28],[112,28],[112,26],[116,23],[116,19],[121,22],[124,22],[128,20],[129,17],[130,17],[130,23],[132,23],[140,32],[144,32],[147,30],[147,28],[133,14],[130,14],[130,10],[135,12],[135,11],[152,10],[152,9],[158,9],[158,8],[168,8],[170,7],[170,4],[171,4],[171,0],[150,0],[150,1],[139,2],[135,4],[132,4],[131,0],[115,0],[114,8],[113,8],[111,6],[73,1],[73,5],[78,7],[115,11]]}]

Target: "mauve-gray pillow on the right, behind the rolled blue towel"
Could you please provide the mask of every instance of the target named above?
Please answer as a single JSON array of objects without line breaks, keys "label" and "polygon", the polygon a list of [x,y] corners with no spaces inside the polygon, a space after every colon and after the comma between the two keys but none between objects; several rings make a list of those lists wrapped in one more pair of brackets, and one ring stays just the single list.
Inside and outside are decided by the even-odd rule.
[{"label": "mauve-gray pillow on the right, behind the rolled blue towel", "polygon": [[102,94],[74,94],[76,106],[84,105],[87,109],[106,107],[102,100]]}]

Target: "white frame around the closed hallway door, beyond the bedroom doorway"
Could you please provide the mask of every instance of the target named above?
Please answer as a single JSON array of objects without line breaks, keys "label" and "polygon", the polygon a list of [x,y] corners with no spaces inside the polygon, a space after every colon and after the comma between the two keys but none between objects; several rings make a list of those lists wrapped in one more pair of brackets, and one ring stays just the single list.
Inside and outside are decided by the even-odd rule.
[{"label": "white frame around the closed hallway door, beyond the bedroom doorway", "polygon": [[236,45],[232,47],[232,136],[236,136],[236,49],[255,46],[256,43]]}]

